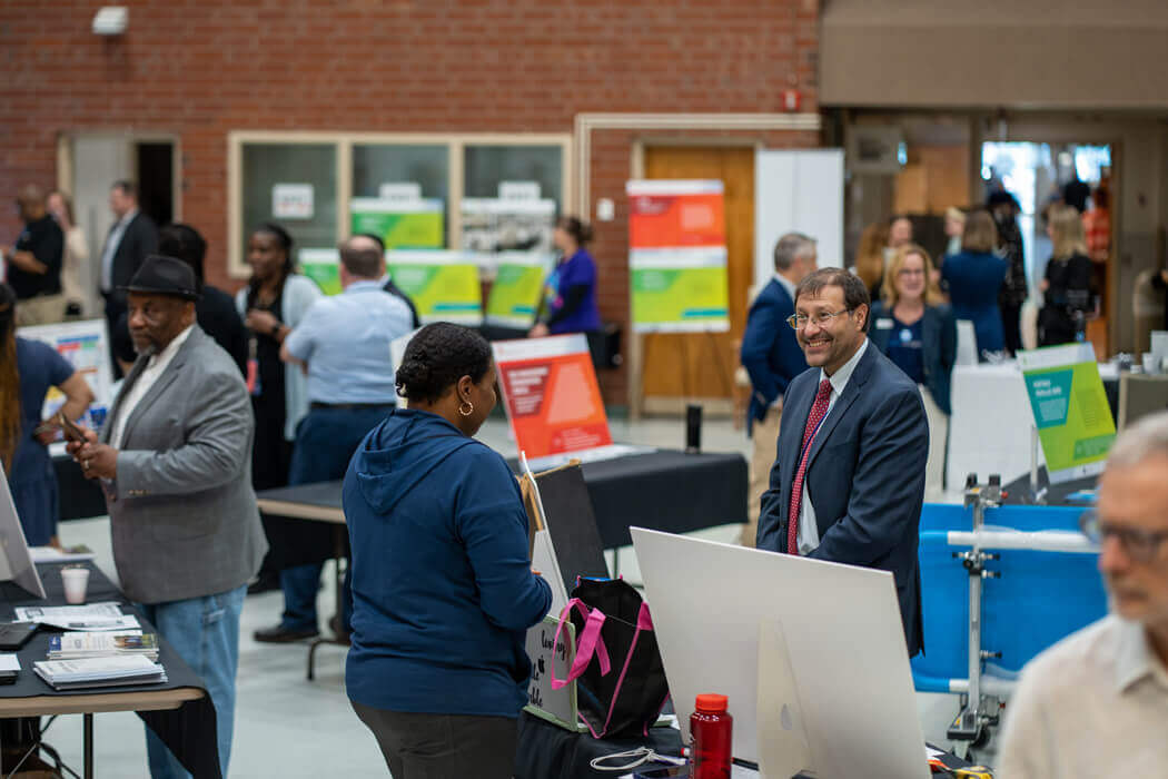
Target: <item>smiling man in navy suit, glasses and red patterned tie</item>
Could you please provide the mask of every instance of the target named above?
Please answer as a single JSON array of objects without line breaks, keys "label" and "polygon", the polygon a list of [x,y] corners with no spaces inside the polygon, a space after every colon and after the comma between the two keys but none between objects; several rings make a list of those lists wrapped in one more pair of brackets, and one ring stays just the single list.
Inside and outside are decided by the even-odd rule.
[{"label": "smiling man in navy suit, glasses and red patterned tie", "polygon": [[920,392],[868,343],[868,290],[826,267],[788,320],[809,370],[787,387],[758,548],[891,571],[909,656],[924,648],[918,523],[929,423]]}]

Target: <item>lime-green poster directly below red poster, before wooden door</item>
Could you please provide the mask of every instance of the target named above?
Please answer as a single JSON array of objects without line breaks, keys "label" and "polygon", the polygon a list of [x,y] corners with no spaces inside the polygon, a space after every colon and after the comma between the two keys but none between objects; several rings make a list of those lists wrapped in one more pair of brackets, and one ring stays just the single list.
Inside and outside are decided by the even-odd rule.
[{"label": "lime-green poster directly below red poster, before wooden door", "polygon": [[730,329],[724,246],[634,249],[630,270],[635,332]]}]

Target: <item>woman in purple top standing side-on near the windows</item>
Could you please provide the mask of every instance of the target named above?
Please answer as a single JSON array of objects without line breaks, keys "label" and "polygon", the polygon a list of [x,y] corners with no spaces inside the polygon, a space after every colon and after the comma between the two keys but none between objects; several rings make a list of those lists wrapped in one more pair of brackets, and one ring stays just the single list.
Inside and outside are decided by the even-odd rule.
[{"label": "woman in purple top standing side-on near the windows", "polygon": [[554,241],[561,252],[559,259],[543,285],[535,326],[528,332],[530,338],[600,329],[596,263],[584,249],[591,239],[592,228],[575,216],[561,216],[556,221]]}]

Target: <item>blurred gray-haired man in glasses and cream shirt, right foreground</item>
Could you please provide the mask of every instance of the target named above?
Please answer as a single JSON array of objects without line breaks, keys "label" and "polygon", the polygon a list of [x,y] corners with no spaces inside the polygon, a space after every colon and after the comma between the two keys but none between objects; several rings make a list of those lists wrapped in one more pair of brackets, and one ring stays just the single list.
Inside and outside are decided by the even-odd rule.
[{"label": "blurred gray-haired man in glasses and cream shirt, right foreground", "polygon": [[1168,412],[1115,439],[1083,529],[1111,614],[1027,663],[1002,779],[1161,777],[1168,751]]}]

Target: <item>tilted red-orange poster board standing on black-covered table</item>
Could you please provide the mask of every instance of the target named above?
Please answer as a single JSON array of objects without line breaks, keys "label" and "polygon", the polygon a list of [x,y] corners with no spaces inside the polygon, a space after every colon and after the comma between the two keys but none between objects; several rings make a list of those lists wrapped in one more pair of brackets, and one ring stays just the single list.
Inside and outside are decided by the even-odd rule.
[{"label": "tilted red-orange poster board standing on black-covered table", "polygon": [[515,444],[535,462],[612,444],[582,334],[495,341],[495,366]]}]

